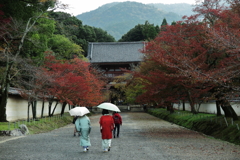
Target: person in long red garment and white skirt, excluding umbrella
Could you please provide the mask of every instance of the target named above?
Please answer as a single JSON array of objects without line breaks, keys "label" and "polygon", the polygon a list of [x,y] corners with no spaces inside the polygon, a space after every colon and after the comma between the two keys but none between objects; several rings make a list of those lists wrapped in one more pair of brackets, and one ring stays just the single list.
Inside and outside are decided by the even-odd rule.
[{"label": "person in long red garment and white skirt, excluding umbrella", "polygon": [[111,148],[112,131],[114,129],[114,121],[108,110],[103,109],[99,124],[102,134],[102,149],[104,152],[108,152]]}]

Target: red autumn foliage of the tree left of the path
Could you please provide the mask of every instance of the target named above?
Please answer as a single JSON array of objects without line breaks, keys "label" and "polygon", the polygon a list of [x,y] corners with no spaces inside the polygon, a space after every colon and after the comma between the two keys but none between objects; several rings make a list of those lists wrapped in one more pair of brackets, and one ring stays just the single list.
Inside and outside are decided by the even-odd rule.
[{"label": "red autumn foliage of the tree left of the path", "polygon": [[46,57],[44,70],[49,77],[48,94],[70,105],[94,106],[100,103],[103,82],[93,70],[89,70],[89,65],[78,58],[62,61],[53,56]]}]

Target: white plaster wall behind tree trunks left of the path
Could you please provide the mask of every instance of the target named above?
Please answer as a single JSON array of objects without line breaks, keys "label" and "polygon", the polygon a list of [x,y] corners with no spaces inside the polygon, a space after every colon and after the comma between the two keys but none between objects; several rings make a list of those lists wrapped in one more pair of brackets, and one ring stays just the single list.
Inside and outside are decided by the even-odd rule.
[{"label": "white plaster wall behind tree trunks left of the path", "polygon": [[[51,112],[55,107],[55,102],[53,102],[51,107]],[[54,114],[60,114],[62,109],[62,104],[59,103]],[[48,116],[48,102],[44,103],[44,116]],[[65,112],[68,112],[69,108],[65,108]],[[37,102],[37,117],[40,117],[42,113],[42,101]],[[19,119],[27,119],[28,116],[28,101],[20,97],[9,97],[6,107],[6,114],[8,121],[16,121]],[[32,107],[29,107],[29,117],[32,118]]]}]

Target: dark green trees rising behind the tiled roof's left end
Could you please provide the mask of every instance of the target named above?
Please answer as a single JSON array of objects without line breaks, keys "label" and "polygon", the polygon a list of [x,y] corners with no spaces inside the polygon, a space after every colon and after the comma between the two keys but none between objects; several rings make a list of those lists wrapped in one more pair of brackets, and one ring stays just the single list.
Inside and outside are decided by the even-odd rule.
[{"label": "dark green trees rising behind the tiled roof's left end", "polygon": [[114,42],[113,36],[101,28],[83,25],[82,21],[68,13],[52,12],[49,17],[56,21],[55,34],[65,35],[83,49],[87,55],[88,42]]}]

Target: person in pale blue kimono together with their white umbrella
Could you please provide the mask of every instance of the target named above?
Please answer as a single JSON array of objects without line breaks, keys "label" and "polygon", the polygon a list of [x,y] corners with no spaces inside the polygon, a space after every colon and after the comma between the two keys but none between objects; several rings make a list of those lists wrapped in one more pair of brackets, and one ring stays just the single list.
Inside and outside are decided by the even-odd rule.
[{"label": "person in pale blue kimono together with their white umbrella", "polygon": [[89,134],[91,132],[91,122],[87,113],[90,113],[86,107],[75,107],[69,111],[71,116],[79,116],[75,121],[77,132],[80,133],[80,146],[83,147],[83,152],[89,150],[91,146]]}]

